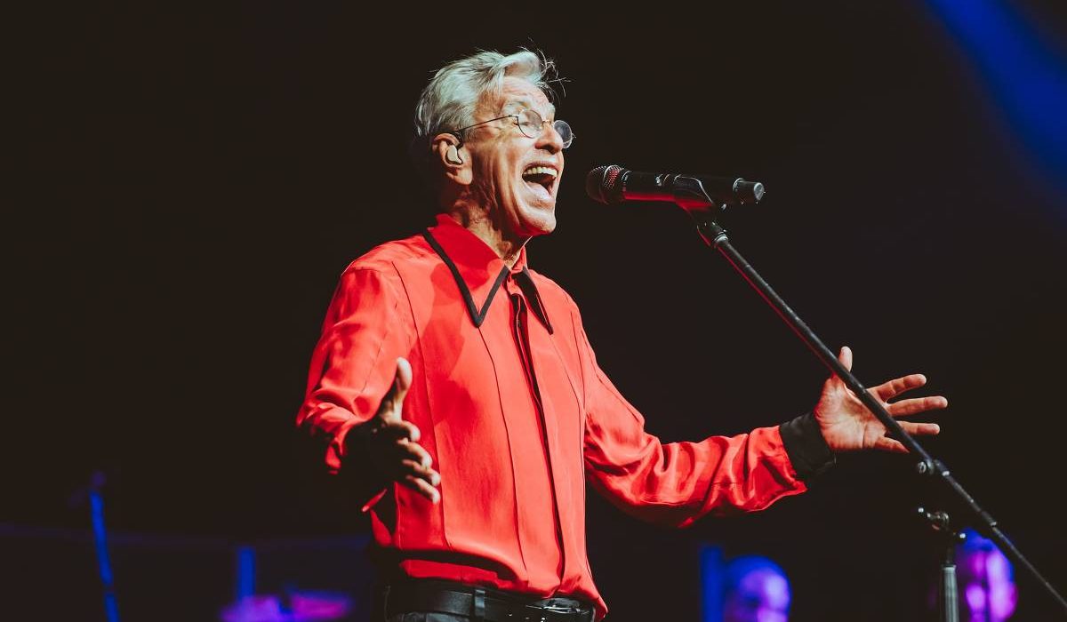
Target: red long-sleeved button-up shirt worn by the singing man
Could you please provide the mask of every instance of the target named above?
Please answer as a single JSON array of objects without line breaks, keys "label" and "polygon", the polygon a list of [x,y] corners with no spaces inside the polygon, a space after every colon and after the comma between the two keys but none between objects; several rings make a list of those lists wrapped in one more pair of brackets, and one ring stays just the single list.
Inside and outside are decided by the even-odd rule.
[{"label": "red long-sleeved button-up shirt worn by the singing man", "polygon": [[413,371],[403,416],[441,473],[437,505],[397,484],[368,504],[377,544],[407,576],[584,597],[603,617],[587,480],[624,511],[676,526],[806,490],[777,427],[666,445],[646,433],[567,292],[528,270],[525,251],[509,270],[444,214],[341,275],[297,419],[329,443],[332,472],[359,462],[346,435],[373,416],[398,356]]}]

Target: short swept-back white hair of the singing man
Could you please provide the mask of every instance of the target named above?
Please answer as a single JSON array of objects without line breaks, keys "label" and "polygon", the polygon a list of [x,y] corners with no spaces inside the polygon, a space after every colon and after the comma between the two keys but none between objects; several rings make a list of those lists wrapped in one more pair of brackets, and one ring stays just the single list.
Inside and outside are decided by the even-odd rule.
[{"label": "short swept-back white hair of the singing man", "polygon": [[507,77],[526,80],[553,98],[548,81],[555,64],[526,48],[504,55],[496,51],[478,52],[452,61],[437,70],[423,90],[415,106],[415,138],[419,142],[442,131],[473,125],[474,113],[482,97],[499,94]]}]

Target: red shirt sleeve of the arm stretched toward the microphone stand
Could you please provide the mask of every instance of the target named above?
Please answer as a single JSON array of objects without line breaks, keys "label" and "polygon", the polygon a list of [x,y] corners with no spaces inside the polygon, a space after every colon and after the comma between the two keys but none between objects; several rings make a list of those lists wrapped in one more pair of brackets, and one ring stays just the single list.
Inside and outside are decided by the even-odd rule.
[{"label": "red shirt sleeve of the arm stretched toward the microphone stand", "polygon": [[664,444],[596,364],[580,319],[586,384],[585,463],[591,485],[623,511],[678,527],[707,513],[762,510],[807,490],[779,427]]}]

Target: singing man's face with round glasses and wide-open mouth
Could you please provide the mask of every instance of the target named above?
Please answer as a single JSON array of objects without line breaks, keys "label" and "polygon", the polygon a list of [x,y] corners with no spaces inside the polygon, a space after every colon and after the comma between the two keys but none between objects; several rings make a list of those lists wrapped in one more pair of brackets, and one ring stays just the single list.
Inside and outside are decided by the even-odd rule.
[{"label": "singing man's face with round glasses and wide-open mouth", "polygon": [[519,78],[505,78],[499,97],[487,97],[475,122],[523,109],[546,122],[538,138],[523,135],[514,118],[469,130],[472,190],[489,209],[494,224],[513,239],[552,233],[556,228],[556,193],[563,174],[563,142],[552,128],[555,108],[544,93]]}]

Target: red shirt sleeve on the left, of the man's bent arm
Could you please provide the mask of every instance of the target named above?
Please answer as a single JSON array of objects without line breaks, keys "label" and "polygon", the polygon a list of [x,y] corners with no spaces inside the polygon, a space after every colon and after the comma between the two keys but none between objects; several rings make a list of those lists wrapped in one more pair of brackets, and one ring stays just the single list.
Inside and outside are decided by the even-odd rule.
[{"label": "red shirt sleeve on the left, of the man's bent arm", "polygon": [[387,480],[362,460],[362,435],[352,433],[378,411],[396,376],[396,358],[410,350],[410,330],[398,320],[401,297],[378,270],[350,267],[341,275],[312,355],[297,426],[324,446],[327,469],[341,473],[365,509]]}]

